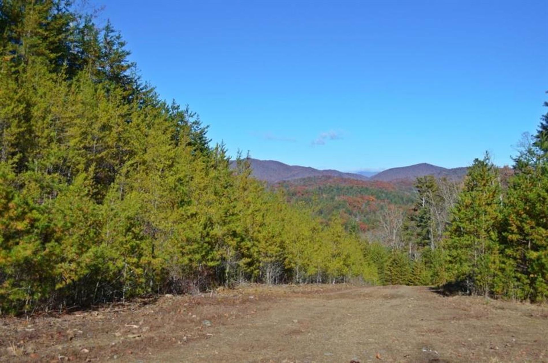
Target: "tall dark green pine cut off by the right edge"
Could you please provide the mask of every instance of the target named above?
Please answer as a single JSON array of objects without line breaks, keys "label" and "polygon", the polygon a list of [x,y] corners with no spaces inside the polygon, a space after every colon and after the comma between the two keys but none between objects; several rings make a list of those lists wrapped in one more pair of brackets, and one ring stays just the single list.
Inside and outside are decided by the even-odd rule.
[{"label": "tall dark green pine cut off by the right edge", "polygon": [[[544,103],[548,106],[548,103]],[[505,211],[504,252],[515,270],[511,297],[548,298],[548,114],[533,142],[515,158]]]}]

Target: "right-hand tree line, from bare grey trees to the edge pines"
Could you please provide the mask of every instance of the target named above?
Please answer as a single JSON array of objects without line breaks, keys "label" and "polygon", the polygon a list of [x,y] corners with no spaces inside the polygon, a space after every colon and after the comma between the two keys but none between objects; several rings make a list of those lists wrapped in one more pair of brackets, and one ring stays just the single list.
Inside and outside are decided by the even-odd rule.
[{"label": "right-hand tree line, from bare grey trees to the edge pines", "polygon": [[[548,103],[544,103],[548,106]],[[462,183],[421,177],[407,213],[381,214],[381,282],[548,299],[548,113],[512,168],[477,158]]]}]

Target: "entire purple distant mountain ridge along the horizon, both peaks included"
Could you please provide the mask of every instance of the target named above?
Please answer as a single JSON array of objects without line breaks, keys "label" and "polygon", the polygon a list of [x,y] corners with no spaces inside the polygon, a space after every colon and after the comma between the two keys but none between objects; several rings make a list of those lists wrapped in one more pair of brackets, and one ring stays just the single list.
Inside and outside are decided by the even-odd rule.
[{"label": "entire purple distant mountain ridge along the horizon, both peaks included", "polygon": [[[356,180],[377,180],[377,181],[395,181],[395,180],[415,180],[424,175],[433,175],[436,178],[446,177],[451,180],[460,180],[466,175],[467,168],[442,168],[428,163],[421,163],[399,168],[387,169],[383,172],[368,178],[366,175],[357,173],[344,173],[332,169],[319,170],[311,167],[287,165],[275,160],[258,160],[249,158],[252,168],[252,176],[259,180],[265,180],[268,183],[278,183],[294,179],[310,177],[336,177]],[[235,167],[235,161],[231,162]]]}]

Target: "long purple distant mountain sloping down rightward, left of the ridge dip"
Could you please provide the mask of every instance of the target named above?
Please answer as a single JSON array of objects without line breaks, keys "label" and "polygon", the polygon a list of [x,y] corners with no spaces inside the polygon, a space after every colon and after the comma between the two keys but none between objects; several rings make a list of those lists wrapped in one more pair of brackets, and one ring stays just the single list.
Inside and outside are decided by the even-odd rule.
[{"label": "long purple distant mountain sloping down rightward, left of the ridge dip", "polygon": [[[253,169],[253,177],[259,180],[268,181],[269,183],[320,176],[349,178],[357,180],[369,179],[364,175],[343,173],[336,170],[318,170],[311,167],[287,165],[274,160],[258,160],[250,158],[249,162],[251,164],[251,168]],[[231,165],[233,164],[234,162],[231,162]]]}]

